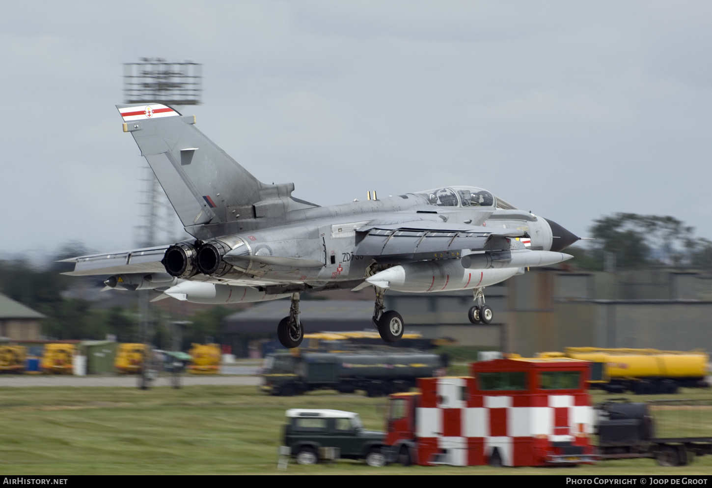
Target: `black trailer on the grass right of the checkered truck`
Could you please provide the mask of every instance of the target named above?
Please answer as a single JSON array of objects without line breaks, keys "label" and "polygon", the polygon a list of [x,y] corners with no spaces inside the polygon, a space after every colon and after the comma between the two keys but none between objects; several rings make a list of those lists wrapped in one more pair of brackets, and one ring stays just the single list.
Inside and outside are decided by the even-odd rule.
[{"label": "black trailer on the grass right of the checkered truck", "polygon": [[685,466],[712,454],[712,399],[614,398],[595,412],[600,459],[654,457],[661,466]]}]

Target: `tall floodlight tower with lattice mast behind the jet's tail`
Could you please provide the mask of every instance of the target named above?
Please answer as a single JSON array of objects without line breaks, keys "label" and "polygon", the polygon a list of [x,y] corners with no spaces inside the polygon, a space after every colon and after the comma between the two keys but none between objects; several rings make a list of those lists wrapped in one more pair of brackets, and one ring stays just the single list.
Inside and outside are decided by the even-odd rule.
[{"label": "tall floodlight tower with lattice mast behind the jet's tail", "polygon": [[[124,63],[125,103],[162,103],[177,108],[181,105],[199,105],[202,95],[202,65],[192,61],[169,63],[163,58],[140,58],[139,63]],[[159,244],[157,231],[172,239],[171,224],[176,215],[166,194],[150,167],[145,169],[143,182],[143,223],[137,226],[138,245],[150,247]],[[146,354],[138,378],[138,387],[146,389],[157,375],[158,366],[151,357],[150,343],[154,327],[149,321],[148,292],[139,291],[140,341],[145,343]]]}]

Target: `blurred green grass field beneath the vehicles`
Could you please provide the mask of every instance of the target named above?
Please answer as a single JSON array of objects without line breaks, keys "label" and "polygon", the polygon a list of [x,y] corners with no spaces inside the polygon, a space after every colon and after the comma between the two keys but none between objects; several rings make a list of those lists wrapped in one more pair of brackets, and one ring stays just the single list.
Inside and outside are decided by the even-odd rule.
[{"label": "blurred green grass field beneath the vehicles", "polygon": [[[712,395],[687,390],[682,396]],[[253,387],[0,388],[0,474],[712,474],[707,456],[678,468],[622,460],[572,469],[358,462],[277,469],[288,408],[350,410],[368,429],[382,430],[384,405],[384,398],[333,392],[271,397]],[[712,412],[707,421],[712,425]]]}]

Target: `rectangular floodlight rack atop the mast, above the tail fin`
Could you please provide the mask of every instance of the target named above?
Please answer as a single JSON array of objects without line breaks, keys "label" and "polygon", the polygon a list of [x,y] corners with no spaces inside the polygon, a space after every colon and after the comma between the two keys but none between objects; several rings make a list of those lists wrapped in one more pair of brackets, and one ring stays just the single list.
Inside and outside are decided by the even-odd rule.
[{"label": "rectangular floodlight rack atop the mast, above the tail fin", "polygon": [[140,63],[124,63],[124,101],[199,105],[202,66],[192,61],[169,63],[164,58],[140,58]]}]

